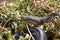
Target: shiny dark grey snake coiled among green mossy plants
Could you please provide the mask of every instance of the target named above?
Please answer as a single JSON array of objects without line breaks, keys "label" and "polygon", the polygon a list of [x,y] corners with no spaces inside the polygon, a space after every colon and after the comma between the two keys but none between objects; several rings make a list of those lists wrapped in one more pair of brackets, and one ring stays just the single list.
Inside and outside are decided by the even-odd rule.
[{"label": "shiny dark grey snake coiled among green mossy plants", "polygon": [[[51,13],[50,15],[47,15],[47,16],[42,17],[42,18],[39,18],[39,17],[36,17],[36,16],[22,16],[22,19],[23,20],[32,20],[32,21],[37,21],[39,23],[42,23],[44,20],[46,21],[49,18],[55,17],[55,16],[60,16],[60,12]],[[47,36],[42,29],[40,29],[38,27],[29,27],[29,29],[30,29],[33,37],[35,38],[35,40],[47,40]],[[26,27],[22,28],[22,30],[25,33],[28,33]],[[15,40],[19,39],[19,36],[21,35],[21,33],[22,33],[21,30],[16,33]]]}]

